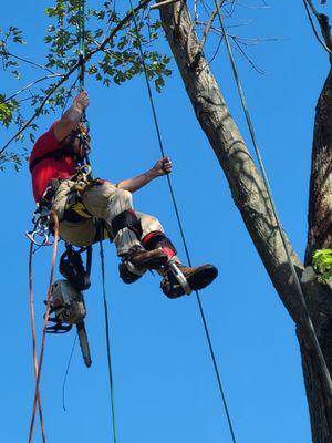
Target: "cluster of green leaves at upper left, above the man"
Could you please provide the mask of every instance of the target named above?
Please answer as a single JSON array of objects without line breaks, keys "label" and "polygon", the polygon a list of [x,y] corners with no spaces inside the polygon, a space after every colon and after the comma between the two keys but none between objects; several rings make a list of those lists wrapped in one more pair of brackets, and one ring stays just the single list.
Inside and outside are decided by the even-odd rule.
[{"label": "cluster of green leaves at upper left, above the man", "polygon": [[[45,9],[50,24],[43,38],[46,52],[42,64],[13,54],[13,49],[24,43],[18,28],[10,27],[7,31],[0,29],[0,55],[4,71],[9,71],[17,80],[21,79],[21,73],[27,72],[28,65],[42,70],[43,74],[46,72],[46,75],[21,87],[17,93],[0,94],[0,123],[6,128],[23,127],[28,121],[25,115],[31,116],[31,112],[38,115],[63,112],[69,99],[77,93],[77,71],[56,89],[45,105],[43,102],[59,79],[76,65],[80,54],[86,60],[85,78],[107,87],[121,85],[141,74],[143,65],[138,39],[143,47],[147,75],[154,82],[156,91],[160,92],[165,78],[172,73],[168,69],[169,58],[154,48],[160,34],[160,22],[152,20],[147,9],[142,9],[137,14],[138,30],[134,21],[129,20],[108,40],[108,35],[122,23],[123,17],[129,10],[124,9],[123,4],[118,7],[114,0],[104,0],[98,8],[86,9],[83,16],[82,4],[81,0],[55,0],[52,7]],[[29,125],[29,141],[34,140],[33,131],[37,127],[34,123]],[[17,137],[20,141],[25,138],[24,134]],[[18,158],[12,155],[0,156],[0,165],[6,159],[19,165]]]}]

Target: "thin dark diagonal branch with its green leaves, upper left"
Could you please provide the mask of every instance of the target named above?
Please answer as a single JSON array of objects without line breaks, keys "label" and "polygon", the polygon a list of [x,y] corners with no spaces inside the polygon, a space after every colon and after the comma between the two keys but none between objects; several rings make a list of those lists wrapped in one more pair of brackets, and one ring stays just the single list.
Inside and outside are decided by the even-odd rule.
[{"label": "thin dark diagonal branch with its green leaves, upper left", "polygon": [[[142,14],[142,31],[144,22],[147,20],[145,10],[149,2],[151,0],[143,0],[134,9],[135,14]],[[34,68],[44,69],[51,73],[51,75],[45,75],[24,85],[9,97],[6,97],[6,94],[0,94],[0,122],[7,127],[10,124],[15,124],[20,127],[0,150],[0,163],[3,163],[6,158],[4,152],[13,141],[22,141],[23,133],[28,127],[32,130],[37,127],[33,122],[40,114],[45,114],[50,111],[54,112],[58,106],[64,107],[68,99],[73,93],[75,84],[69,89],[64,86],[64,83],[80,69],[77,60],[79,6],[79,0],[71,0],[69,2],[55,0],[55,6],[45,10],[46,14],[51,19],[55,19],[58,23],[48,28],[44,41],[50,48],[46,55],[46,63],[44,64],[31,62],[30,60],[14,55],[12,51],[8,50],[9,38],[0,39],[0,55],[8,63],[3,68],[7,69],[12,64],[17,66],[17,62],[12,60],[15,59],[17,61],[29,63]],[[86,51],[83,59],[86,65],[86,74],[93,75],[95,80],[102,81],[106,86],[110,86],[112,82],[121,84],[142,72],[141,61],[136,51],[137,35],[134,32],[133,25],[131,25],[132,17],[133,12],[131,10],[121,18],[115,11],[112,1],[107,0],[104,1],[103,10],[90,9],[86,13],[86,23],[107,22],[106,33],[100,27],[90,27],[94,30],[90,29],[85,31]],[[149,47],[158,38],[159,29],[160,23],[156,20],[154,23],[149,23],[148,38],[139,34],[145,47]],[[18,39],[20,31],[14,29],[14,32],[15,39]],[[97,40],[101,40],[101,43],[96,43]],[[93,63],[92,60],[96,59],[97,53],[102,53],[103,58]],[[155,79],[156,89],[160,91],[160,87],[164,85],[164,76],[170,74],[170,70],[166,68],[169,58],[160,55],[153,50],[146,50],[144,56],[146,58],[148,75],[151,79]],[[54,69],[56,71],[61,70],[63,73],[56,74],[54,73]],[[17,75],[19,78],[19,72],[17,72]],[[46,89],[41,89],[40,92],[31,91],[38,83],[53,80],[56,76],[60,76],[56,83],[50,84]],[[30,96],[18,101],[17,97],[21,94],[24,95],[24,92],[29,92]],[[21,114],[21,103],[27,100],[35,106],[33,114],[28,120],[23,119]],[[32,138],[33,135],[30,133],[30,140]]]}]

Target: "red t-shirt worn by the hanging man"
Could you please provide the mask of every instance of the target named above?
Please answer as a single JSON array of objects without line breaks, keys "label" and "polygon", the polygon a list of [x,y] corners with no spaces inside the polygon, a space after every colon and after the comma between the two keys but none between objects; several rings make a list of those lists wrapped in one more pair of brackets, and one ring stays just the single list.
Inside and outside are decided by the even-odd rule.
[{"label": "red t-shirt worn by the hanging man", "polygon": [[[31,166],[33,162],[52,151],[61,150],[53,127],[41,135],[34,143],[29,159]],[[76,163],[70,155],[61,159],[44,158],[32,169],[32,189],[35,202],[39,202],[52,178],[69,178],[75,174]]]}]

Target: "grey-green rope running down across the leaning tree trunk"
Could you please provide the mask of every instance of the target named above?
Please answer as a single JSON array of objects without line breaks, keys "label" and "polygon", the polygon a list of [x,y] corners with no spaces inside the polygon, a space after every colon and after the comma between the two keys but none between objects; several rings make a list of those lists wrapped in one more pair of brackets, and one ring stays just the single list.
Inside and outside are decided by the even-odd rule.
[{"label": "grey-green rope running down across the leaning tree trunk", "polygon": [[[216,0],[215,0],[215,4],[217,7]],[[231,64],[231,68],[232,68],[232,72],[234,72],[234,76],[235,76],[235,80],[236,80],[237,89],[238,89],[238,92],[239,92],[241,105],[242,105],[242,109],[243,109],[243,112],[245,112],[245,116],[246,116],[246,121],[247,121],[247,124],[248,124],[251,142],[252,142],[252,145],[253,145],[257,158],[258,158],[260,172],[261,172],[261,175],[262,175],[262,178],[263,178],[264,186],[267,188],[268,197],[269,197],[270,205],[271,205],[271,208],[272,208],[276,222],[277,222],[277,226],[278,226],[278,230],[280,233],[282,245],[283,245],[283,248],[284,248],[284,251],[286,251],[286,255],[287,255],[287,260],[288,260],[288,264],[289,264],[289,267],[290,267],[293,280],[294,280],[295,289],[297,289],[297,292],[298,292],[298,295],[300,297],[300,301],[301,301],[301,305],[302,305],[302,308],[303,308],[303,320],[304,320],[303,328],[305,328],[309,331],[309,336],[310,336],[310,338],[312,340],[312,343],[314,346],[314,349],[317,351],[317,356],[318,356],[320,364],[321,364],[323,379],[324,379],[324,382],[325,382],[325,385],[326,385],[326,389],[328,389],[328,394],[329,394],[330,398],[332,398],[331,374],[330,374],[329,368],[326,365],[323,352],[321,350],[319,340],[317,338],[317,333],[315,333],[315,330],[314,330],[314,327],[313,327],[313,323],[312,323],[312,320],[311,320],[311,317],[310,317],[310,313],[309,313],[309,310],[308,310],[308,306],[307,306],[307,302],[305,302],[305,299],[304,299],[302,287],[301,287],[298,274],[295,271],[294,264],[293,264],[292,258],[291,258],[290,248],[289,248],[289,245],[288,245],[287,239],[286,239],[284,231],[283,231],[282,226],[281,226],[279,214],[277,212],[277,206],[276,206],[276,203],[274,203],[274,199],[273,199],[273,196],[272,196],[272,192],[271,192],[271,187],[270,187],[270,184],[269,184],[269,179],[268,179],[268,176],[267,176],[267,173],[266,173],[266,169],[264,169],[264,165],[263,165],[263,162],[262,162],[262,157],[261,157],[258,144],[257,144],[257,138],[256,138],[252,121],[251,121],[251,117],[250,117],[250,114],[249,114],[249,110],[248,110],[246,96],[245,96],[245,93],[243,93],[243,89],[242,89],[242,85],[241,85],[241,82],[240,82],[240,78],[239,78],[239,74],[238,74],[238,69],[237,69],[237,65],[236,65],[236,62],[235,62],[232,50],[231,50],[231,47],[230,47],[230,43],[229,43],[229,39],[228,39],[228,35],[227,35],[227,32],[226,32],[226,29],[225,29],[225,25],[224,25],[224,20],[222,20],[222,17],[221,17],[221,13],[220,13],[219,9],[218,9],[218,18],[219,18],[221,31],[222,31],[222,34],[224,34],[224,39],[225,39],[225,42],[226,42],[227,52],[228,52],[228,55],[229,55],[229,59],[230,59],[230,64]]]}]

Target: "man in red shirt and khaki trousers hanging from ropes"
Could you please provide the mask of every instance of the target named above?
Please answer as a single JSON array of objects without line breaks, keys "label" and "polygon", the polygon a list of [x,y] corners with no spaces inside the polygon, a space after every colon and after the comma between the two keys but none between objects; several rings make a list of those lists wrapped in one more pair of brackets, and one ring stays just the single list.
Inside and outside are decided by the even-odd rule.
[{"label": "man in red shirt and khaki trousers hanging from ropes", "polygon": [[80,123],[87,105],[87,93],[81,92],[62,117],[35,142],[29,163],[35,202],[42,199],[50,184],[54,187],[55,181],[52,209],[60,220],[61,238],[74,246],[89,246],[96,241],[95,222],[96,218],[103,219],[122,258],[120,276],[126,284],[137,280],[148,269],[156,269],[164,277],[164,293],[170,298],[180,297],[184,289],[167,270],[167,264],[173,260],[191,289],[209,285],[217,277],[216,267],[181,266],[160,223],[133,209],[132,193],[172,172],[168,157],[157,161],[153,168],[136,177],[117,184],[92,181],[77,190],[77,169],[89,147],[86,128]]}]

